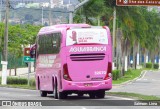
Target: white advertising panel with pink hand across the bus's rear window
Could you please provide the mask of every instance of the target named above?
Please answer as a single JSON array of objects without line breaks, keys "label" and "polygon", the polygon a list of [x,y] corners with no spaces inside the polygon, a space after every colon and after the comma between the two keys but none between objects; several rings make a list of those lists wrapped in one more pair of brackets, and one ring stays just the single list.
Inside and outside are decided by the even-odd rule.
[{"label": "white advertising panel with pink hand across the bus's rear window", "polygon": [[105,29],[71,29],[67,30],[66,46],[74,44],[108,44]]}]

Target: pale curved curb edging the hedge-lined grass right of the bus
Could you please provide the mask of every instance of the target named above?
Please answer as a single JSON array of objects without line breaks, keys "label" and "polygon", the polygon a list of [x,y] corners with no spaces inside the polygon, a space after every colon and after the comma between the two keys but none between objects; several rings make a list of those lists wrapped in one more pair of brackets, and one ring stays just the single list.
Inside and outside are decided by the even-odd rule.
[{"label": "pale curved curb edging the hedge-lined grass right of the bus", "polygon": [[134,79],[132,79],[132,80],[128,80],[128,81],[123,82],[123,83],[121,83],[121,84],[113,84],[113,86],[123,86],[123,85],[129,84],[129,83],[132,83],[132,82],[136,81],[137,79],[142,78],[143,75],[144,75],[146,72],[147,72],[146,70],[143,70],[143,71],[141,71],[141,74],[140,74],[139,77],[136,77],[136,78],[134,78]]}]

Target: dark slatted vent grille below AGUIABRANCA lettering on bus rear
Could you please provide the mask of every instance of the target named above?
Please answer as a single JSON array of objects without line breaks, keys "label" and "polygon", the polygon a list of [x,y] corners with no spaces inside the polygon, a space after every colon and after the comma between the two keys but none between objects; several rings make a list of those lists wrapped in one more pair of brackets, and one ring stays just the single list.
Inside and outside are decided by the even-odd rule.
[{"label": "dark slatted vent grille below AGUIABRANCA lettering on bus rear", "polygon": [[70,59],[72,61],[96,61],[103,60],[104,53],[89,53],[89,54],[71,54]]}]

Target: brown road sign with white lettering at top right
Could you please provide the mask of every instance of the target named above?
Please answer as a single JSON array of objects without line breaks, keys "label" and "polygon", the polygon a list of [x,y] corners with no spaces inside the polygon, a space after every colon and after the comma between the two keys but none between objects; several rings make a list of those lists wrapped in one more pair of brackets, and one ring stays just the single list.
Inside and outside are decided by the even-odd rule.
[{"label": "brown road sign with white lettering at top right", "polygon": [[116,0],[117,6],[160,6],[160,0]]}]

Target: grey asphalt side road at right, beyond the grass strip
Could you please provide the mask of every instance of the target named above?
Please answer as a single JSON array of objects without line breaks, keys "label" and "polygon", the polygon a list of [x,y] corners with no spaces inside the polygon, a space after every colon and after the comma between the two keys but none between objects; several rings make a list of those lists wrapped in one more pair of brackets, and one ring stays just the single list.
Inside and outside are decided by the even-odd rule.
[{"label": "grey asphalt side road at right, beyond the grass strip", "polygon": [[131,92],[160,97],[160,71],[146,71],[134,82],[114,86],[111,92]]}]

